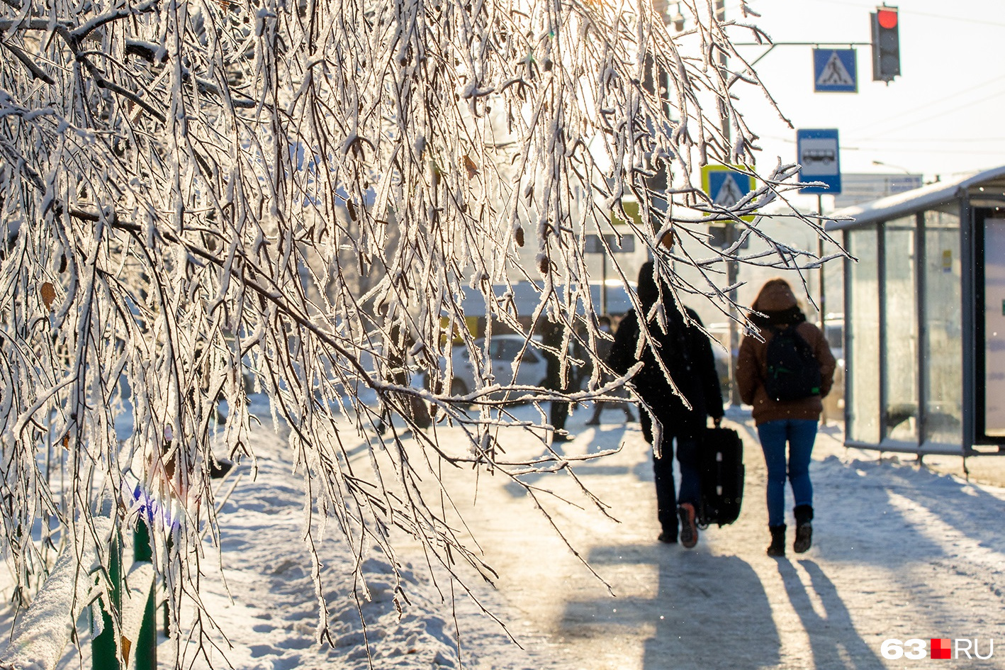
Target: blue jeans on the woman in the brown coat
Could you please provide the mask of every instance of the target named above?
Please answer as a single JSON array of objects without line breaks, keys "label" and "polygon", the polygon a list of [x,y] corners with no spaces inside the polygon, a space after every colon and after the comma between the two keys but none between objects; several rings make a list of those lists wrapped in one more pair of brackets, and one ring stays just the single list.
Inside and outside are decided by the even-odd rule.
[{"label": "blue jeans on the woman in the brown coat", "polygon": [[[792,485],[795,504],[813,504],[813,484],[810,483],[810,456],[816,441],[816,421],[812,418],[782,418],[757,427],[768,466],[768,525],[785,523],[785,479]],[[788,464],[786,464],[788,444]],[[787,467],[786,467],[787,466]]]}]

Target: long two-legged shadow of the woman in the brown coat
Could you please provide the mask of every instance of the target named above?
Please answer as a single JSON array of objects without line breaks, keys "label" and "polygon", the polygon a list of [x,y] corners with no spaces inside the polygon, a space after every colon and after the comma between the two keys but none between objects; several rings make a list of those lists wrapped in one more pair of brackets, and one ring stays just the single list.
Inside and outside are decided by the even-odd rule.
[{"label": "long two-legged shadow of the woman in the brown coat", "polygon": [[778,572],[785,583],[792,609],[799,615],[813,651],[813,667],[818,670],[871,670],[885,667],[858,635],[837,589],[812,560],[799,564],[810,577],[810,589],[823,605],[823,615],[813,609],[806,584],[795,565],[785,558],[778,561]]}]

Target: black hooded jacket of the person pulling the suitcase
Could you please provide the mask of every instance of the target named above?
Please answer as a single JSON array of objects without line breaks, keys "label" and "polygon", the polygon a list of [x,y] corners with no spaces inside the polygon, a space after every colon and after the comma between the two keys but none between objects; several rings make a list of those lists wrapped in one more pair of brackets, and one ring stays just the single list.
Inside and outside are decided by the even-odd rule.
[{"label": "black hooded jacket of the person pulling the suitcase", "polygon": [[[718,418],[724,413],[716,360],[709,337],[693,325],[701,323],[697,314],[684,308],[692,322],[687,325],[676,307],[669,287],[664,285],[662,294],[666,332],[660,329],[658,321],[653,318],[648,324],[649,334],[677,389],[690,403],[690,409],[666,381],[663,371],[656,363],[653,347],[645,346],[642,349],[640,360],[643,366],[632,378],[632,384],[645,403],[652,407],[664,430],[671,435],[696,438],[706,427],[706,416]],[[659,290],[652,279],[651,263],[646,263],[639,273],[638,298],[645,312],[659,300]],[[640,334],[638,315],[635,310],[631,310],[618,326],[607,358],[608,365],[618,374],[624,374],[635,364],[635,350]]]}]

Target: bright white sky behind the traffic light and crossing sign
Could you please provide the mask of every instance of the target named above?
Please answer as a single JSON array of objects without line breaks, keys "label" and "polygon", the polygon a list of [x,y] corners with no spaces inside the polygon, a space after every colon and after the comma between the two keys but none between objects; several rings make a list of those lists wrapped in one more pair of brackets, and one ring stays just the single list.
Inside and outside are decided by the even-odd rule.
[{"label": "bright white sky behind the traffic light and crossing sign", "polygon": [[[858,93],[814,93],[812,46],[778,45],[756,66],[796,129],[836,128],[842,173],[910,171],[940,175],[1005,164],[1005,2],[889,0],[899,8],[900,71],[889,86],[872,80],[869,13],[881,0],[751,0],[756,23],[775,42],[856,46]],[[669,3],[671,13],[673,2]],[[727,18],[742,20],[727,0]],[[750,42],[749,32],[733,32]],[[843,42],[843,46],[842,46]],[[754,60],[766,47],[740,46]],[[795,161],[790,130],[745,92],[741,109],[761,138],[761,169]],[[765,161],[761,165],[761,161]],[[886,165],[874,165],[880,161]]]}]

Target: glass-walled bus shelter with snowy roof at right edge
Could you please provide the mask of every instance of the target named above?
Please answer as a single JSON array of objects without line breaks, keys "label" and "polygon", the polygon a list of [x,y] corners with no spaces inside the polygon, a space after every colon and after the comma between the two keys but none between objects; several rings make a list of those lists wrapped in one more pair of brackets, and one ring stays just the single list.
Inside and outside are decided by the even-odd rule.
[{"label": "glass-walled bus shelter with snowy roof at right edge", "polygon": [[1005,167],[830,216],[857,259],[844,272],[845,444],[1005,452]]}]

